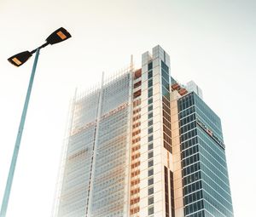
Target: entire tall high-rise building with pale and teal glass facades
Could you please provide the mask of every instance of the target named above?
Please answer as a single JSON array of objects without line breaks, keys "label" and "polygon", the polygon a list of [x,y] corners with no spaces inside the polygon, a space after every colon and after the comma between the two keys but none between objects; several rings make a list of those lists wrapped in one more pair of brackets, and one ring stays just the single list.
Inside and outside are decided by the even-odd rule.
[{"label": "entire tall high-rise building with pale and teal glass facades", "polygon": [[73,99],[58,217],[233,216],[219,117],[156,46]]}]

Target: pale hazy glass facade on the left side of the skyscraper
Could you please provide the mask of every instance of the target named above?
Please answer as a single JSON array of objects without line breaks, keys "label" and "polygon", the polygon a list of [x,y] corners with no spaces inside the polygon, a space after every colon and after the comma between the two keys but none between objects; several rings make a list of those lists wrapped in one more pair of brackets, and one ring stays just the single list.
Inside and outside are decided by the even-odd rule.
[{"label": "pale hazy glass facade on the left side of the skyscraper", "polygon": [[73,100],[57,216],[124,214],[130,76]]}]

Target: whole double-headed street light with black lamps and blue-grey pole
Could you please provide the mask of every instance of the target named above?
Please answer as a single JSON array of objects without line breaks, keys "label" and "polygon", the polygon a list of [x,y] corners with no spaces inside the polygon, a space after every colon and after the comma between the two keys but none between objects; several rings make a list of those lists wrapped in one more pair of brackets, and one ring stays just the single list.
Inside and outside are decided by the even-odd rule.
[{"label": "whole double-headed street light with black lamps and blue-grey pole", "polygon": [[11,165],[9,168],[9,175],[8,175],[8,179],[6,182],[5,191],[4,191],[4,195],[3,195],[3,202],[2,202],[0,217],[5,217],[6,211],[8,208],[9,194],[10,194],[12,182],[14,179],[15,165],[16,165],[18,153],[20,150],[20,140],[22,137],[24,123],[26,120],[26,111],[27,111],[28,102],[30,99],[31,91],[32,91],[32,83],[34,80],[34,76],[35,76],[35,72],[36,72],[36,68],[37,68],[37,64],[38,64],[39,51],[40,51],[40,49],[43,49],[44,47],[46,47],[49,44],[52,45],[55,43],[61,43],[65,40],[67,40],[69,37],[71,37],[69,32],[66,29],[64,29],[63,27],[61,27],[61,28],[57,29],[56,31],[54,31],[53,33],[51,33],[49,35],[49,37],[46,38],[46,40],[45,40],[46,43],[44,43],[43,45],[38,47],[38,49],[33,49],[32,51],[24,51],[19,54],[15,54],[8,59],[11,64],[19,67],[19,66],[23,65],[26,62],[26,60],[28,60],[32,56],[32,54],[36,53],[35,60],[34,60],[33,66],[32,66],[32,74],[30,77],[27,91],[26,91],[26,100],[25,100],[22,115],[20,118],[20,126],[18,129],[17,137],[16,137],[15,150],[13,153]]}]

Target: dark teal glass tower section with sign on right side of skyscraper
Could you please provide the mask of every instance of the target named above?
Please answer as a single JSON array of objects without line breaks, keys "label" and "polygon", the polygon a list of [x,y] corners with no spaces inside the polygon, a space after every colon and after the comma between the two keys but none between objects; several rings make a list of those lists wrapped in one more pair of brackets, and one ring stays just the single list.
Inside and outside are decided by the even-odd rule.
[{"label": "dark teal glass tower section with sign on right side of skyscraper", "polygon": [[219,117],[195,92],[178,111],[186,216],[233,216]]}]

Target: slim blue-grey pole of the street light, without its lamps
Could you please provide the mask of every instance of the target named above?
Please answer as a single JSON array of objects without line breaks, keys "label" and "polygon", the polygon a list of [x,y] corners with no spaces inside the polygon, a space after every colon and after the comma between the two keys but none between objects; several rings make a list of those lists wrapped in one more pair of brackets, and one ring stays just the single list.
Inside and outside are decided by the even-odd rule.
[{"label": "slim blue-grey pole of the street light, without its lamps", "polygon": [[23,107],[23,111],[22,111],[22,115],[21,115],[21,119],[20,119],[20,126],[19,126],[19,130],[18,130],[18,134],[16,137],[16,142],[15,142],[15,150],[13,153],[11,165],[9,168],[9,175],[8,175],[8,179],[6,182],[5,191],[4,191],[4,195],[3,195],[3,202],[2,202],[0,217],[5,217],[6,211],[8,208],[9,194],[10,194],[13,179],[14,179],[15,166],[16,166],[16,162],[17,162],[17,158],[18,158],[18,154],[19,154],[19,150],[20,150],[20,140],[22,137],[24,124],[26,121],[26,111],[27,111],[27,107],[28,107],[28,103],[29,103],[29,99],[30,99],[30,95],[31,95],[31,91],[32,91],[32,84],[33,84],[33,80],[34,80],[34,76],[35,76],[35,72],[36,72],[36,68],[37,68],[37,64],[38,64],[39,51],[40,51],[40,49],[37,49],[37,53],[35,56],[33,67],[32,67],[30,81],[29,81],[28,88],[26,91],[26,100],[24,103],[24,107]]}]

